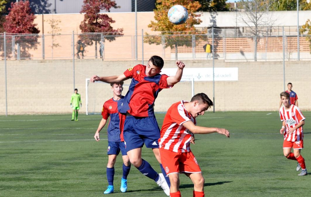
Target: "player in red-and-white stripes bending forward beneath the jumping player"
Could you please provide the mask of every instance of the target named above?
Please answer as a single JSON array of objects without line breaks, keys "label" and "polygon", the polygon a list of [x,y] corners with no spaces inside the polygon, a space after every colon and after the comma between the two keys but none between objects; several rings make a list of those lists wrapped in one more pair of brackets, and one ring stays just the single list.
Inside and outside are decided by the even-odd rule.
[{"label": "player in red-and-white stripes bending forward beneath the jumping player", "polygon": [[210,98],[199,93],[190,102],[179,101],[169,107],[161,129],[159,139],[162,165],[169,180],[170,196],[180,197],[179,173],[185,173],[193,182],[193,196],[204,197],[204,178],[192,151],[190,142],[193,134],[219,133],[229,138],[229,131],[220,128],[196,126],[196,117],[213,105]]}]

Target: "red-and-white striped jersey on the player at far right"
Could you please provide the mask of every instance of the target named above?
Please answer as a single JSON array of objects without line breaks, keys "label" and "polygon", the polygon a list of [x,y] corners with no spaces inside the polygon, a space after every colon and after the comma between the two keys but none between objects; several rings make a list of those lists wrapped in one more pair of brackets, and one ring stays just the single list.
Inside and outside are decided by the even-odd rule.
[{"label": "red-and-white striped jersey on the player at far right", "polygon": [[290,142],[298,142],[300,140],[303,140],[304,133],[302,130],[302,126],[296,129],[292,134],[288,135],[287,130],[289,128],[293,128],[296,125],[299,124],[300,121],[306,119],[302,113],[300,112],[300,109],[295,105],[290,105],[290,109],[287,111],[285,110],[285,106],[280,108],[280,118],[281,121],[285,121],[286,129],[284,132],[284,140],[290,141]]}]

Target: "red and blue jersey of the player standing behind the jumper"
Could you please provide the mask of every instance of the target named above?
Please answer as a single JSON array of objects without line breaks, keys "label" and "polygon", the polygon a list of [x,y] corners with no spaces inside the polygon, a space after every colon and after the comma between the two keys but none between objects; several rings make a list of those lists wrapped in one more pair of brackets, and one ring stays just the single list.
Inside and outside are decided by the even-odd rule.
[{"label": "red and blue jersey of the player standing behind the jumper", "polygon": [[124,96],[118,101],[110,98],[103,105],[101,115],[105,120],[110,116],[108,123],[108,142],[123,142],[123,126],[126,116],[120,113]]}]

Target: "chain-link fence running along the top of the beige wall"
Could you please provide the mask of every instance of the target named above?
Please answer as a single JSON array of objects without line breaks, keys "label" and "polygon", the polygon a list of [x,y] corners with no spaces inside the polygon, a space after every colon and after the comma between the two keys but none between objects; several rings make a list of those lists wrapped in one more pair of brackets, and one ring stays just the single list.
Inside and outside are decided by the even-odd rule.
[{"label": "chain-link fence running along the top of the beige wall", "polygon": [[[283,27],[281,30],[279,27],[267,28],[265,33],[261,30],[258,36],[252,35],[247,28],[210,28],[193,34],[140,35],[137,39],[135,36],[115,36],[109,33],[53,35],[6,33],[5,37],[2,33],[0,34],[0,56],[4,59],[5,53],[7,60],[73,58],[148,60],[152,55],[160,55],[166,60],[212,58],[229,61],[282,60],[283,58],[303,60],[311,59],[309,31],[305,30],[299,35],[299,47],[297,33],[295,34],[290,27]],[[4,42],[6,42],[5,48]],[[206,52],[207,43],[211,45],[214,57]]]}]

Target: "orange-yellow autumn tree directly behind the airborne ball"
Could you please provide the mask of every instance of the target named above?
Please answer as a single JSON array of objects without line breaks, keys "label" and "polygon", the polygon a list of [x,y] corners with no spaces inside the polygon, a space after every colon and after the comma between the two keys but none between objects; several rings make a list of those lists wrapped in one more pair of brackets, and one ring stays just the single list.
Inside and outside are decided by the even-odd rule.
[{"label": "orange-yellow autumn tree directly behind the airborne ball", "polygon": [[[182,5],[188,11],[188,19],[185,23],[175,25],[171,23],[167,17],[167,12],[169,8],[174,5]],[[196,31],[194,25],[200,24],[202,21],[197,18],[200,15],[195,14],[195,12],[201,7],[201,4],[198,1],[189,1],[189,0],[157,0],[156,1],[156,9],[155,13],[155,21],[151,21],[151,24],[148,25],[152,31],[161,32],[160,35],[169,35],[165,37],[165,47],[170,46],[171,48],[175,48],[177,50],[177,46],[188,46],[191,43],[184,42],[185,37],[188,36],[174,36],[176,34],[193,34]],[[146,33],[146,37],[144,37],[144,42],[149,44],[159,45],[162,43],[161,36],[150,36]]]}]

